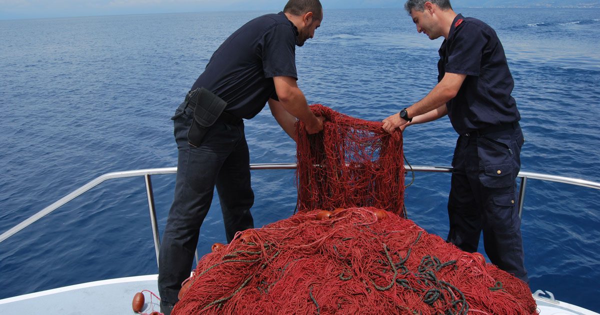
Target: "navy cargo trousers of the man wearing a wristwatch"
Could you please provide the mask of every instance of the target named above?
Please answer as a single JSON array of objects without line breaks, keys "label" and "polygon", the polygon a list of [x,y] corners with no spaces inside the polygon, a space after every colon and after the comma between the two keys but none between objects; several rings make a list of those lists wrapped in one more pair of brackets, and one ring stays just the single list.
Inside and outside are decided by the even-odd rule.
[{"label": "navy cargo trousers of the man wearing a wristwatch", "polygon": [[518,124],[496,133],[458,137],[448,199],[448,242],[474,253],[483,231],[491,263],[529,283],[524,266],[517,178],[523,133]]}]

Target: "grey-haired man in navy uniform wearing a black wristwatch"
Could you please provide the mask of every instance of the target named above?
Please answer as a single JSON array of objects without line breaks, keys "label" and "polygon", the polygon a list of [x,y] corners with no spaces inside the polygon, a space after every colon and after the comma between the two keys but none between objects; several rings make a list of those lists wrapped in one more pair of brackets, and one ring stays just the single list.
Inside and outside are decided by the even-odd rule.
[{"label": "grey-haired man in navy uniform wearing a black wristwatch", "polygon": [[473,253],[483,230],[491,262],[528,283],[515,182],[524,139],[502,44],[490,26],[454,13],[448,0],[409,0],[404,8],[419,33],[445,38],[439,83],[383,119],[383,128],[391,133],[449,116],[460,136],[452,160],[448,242]]}]

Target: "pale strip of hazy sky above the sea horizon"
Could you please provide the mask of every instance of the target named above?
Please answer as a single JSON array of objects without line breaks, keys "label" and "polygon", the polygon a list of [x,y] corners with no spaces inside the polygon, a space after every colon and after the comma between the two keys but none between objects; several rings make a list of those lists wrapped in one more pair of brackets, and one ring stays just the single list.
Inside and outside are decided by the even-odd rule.
[{"label": "pale strip of hazy sky above the sea horizon", "polygon": [[[200,11],[281,11],[286,0],[0,0],[0,20]],[[577,5],[600,0],[452,0],[453,7]],[[323,8],[401,8],[404,0],[321,0]]]}]

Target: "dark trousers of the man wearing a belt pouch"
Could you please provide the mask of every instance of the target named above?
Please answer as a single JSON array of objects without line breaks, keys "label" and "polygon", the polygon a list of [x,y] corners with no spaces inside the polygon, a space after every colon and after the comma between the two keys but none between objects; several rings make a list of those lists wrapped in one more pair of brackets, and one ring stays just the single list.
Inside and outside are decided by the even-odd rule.
[{"label": "dark trousers of the man wearing a belt pouch", "polygon": [[200,226],[211,206],[215,186],[221,203],[227,242],[252,229],[250,155],[244,123],[217,121],[199,146],[188,143],[192,110],[181,104],[173,116],[178,148],[175,199],[160,244],[158,290],[162,301],[175,304],[181,283],[190,277]]}]

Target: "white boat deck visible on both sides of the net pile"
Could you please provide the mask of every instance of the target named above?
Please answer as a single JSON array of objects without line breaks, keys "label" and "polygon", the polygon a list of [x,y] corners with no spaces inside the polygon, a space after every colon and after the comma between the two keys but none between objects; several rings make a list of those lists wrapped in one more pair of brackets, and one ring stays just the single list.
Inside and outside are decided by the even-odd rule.
[{"label": "white boat deck visible on both sides of the net pile", "polygon": [[[135,314],[131,308],[133,296],[142,290],[158,294],[158,275],[118,278],[76,284],[43,292],[31,293],[0,300],[2,315],[79,315],[79,314]],[[142,313],[160,311],[157,298],[144,293]],[[565,302],[550,302],[534,295],[540,315],[600,315]]]}]

